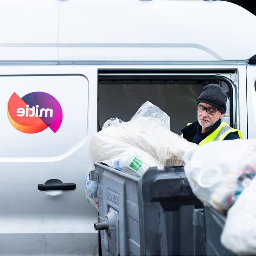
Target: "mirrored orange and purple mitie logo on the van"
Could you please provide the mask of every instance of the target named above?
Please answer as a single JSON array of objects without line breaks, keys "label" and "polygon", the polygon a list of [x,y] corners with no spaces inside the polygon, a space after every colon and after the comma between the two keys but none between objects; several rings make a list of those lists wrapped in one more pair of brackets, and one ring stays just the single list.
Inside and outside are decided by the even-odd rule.
[{"label": "mirrored orange and purple mitie logo on the van", "polygon": [[7,104],[7,116],[20,132],[42,132],[49,127],[55,133],[62,122],[62,109],[46,92],[30,92],[22,98],[14,92]]}]

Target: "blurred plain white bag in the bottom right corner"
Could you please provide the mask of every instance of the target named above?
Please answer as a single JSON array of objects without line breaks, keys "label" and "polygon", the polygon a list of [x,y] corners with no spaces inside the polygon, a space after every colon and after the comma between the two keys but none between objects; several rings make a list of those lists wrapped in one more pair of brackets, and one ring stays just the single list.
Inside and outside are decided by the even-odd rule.
[{"label": "blurred plain white bag in the bottom right corner", "polygon": [[220,237],[221,244],[237,255],[256,255],[256,177],[249,183],[228,210]]}]

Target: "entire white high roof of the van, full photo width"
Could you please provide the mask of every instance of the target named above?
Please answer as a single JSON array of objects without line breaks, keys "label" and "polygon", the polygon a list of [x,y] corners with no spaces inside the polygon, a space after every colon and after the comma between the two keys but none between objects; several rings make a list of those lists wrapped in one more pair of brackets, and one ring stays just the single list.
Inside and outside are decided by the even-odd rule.
[{"label": "entire white high roof of the van, full photo width", "polygon": [[226,1],[2,0],[0,62],[246,62],[256,16]]}]

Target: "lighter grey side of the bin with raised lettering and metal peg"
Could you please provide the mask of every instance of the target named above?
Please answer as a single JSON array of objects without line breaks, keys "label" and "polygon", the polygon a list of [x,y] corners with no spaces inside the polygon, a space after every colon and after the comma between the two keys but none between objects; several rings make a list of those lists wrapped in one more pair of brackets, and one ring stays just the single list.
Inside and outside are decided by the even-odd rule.
[{"label": "lighter grey side of the bin with raised lettering and metal peg", "polygon": [[96,165],[98,173],[99,220],[106,218],[108,230],[101,230],[102,255],[139,255],[140,230],[136,180],[120,171]]}]

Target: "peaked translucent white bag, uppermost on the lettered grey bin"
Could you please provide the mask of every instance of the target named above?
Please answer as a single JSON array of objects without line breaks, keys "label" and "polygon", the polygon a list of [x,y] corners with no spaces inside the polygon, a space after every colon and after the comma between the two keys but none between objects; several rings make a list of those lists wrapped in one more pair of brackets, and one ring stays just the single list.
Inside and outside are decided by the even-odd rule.
[{"label": "peaked translucent white bag, uppermost on the lettered grey bin", "polygon": [[98,132],[97,136],[106,136],[108,139],[124,142],[144,150],[162,165],[165,164],[170,117],[149,101],[138,109],[129,122],[111,118],[105,122],[102,128],[103,130]]}]

